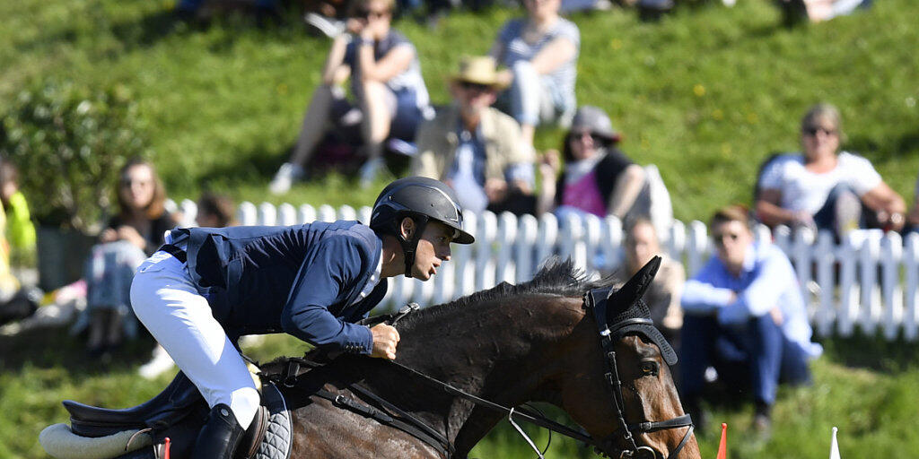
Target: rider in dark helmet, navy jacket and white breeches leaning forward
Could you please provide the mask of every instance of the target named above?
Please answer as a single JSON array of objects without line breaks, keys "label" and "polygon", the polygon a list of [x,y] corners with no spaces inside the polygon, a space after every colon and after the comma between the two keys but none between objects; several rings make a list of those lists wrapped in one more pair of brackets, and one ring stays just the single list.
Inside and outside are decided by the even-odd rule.
[{"label": "rider in dark helmet, navy jacket and white breeches leaning forward", "polygon": [[399,333],[359,326],[386,293],[384,277],[426,281],[469,244],[453,190],[407,177],[380,193],[369,227],[357,221],[292,227],[182,228],[137,269],[137,317],[198,387],[210,415],[196,459],[232,458],[259,395],[234,342],[286,331],[320,348],[394,359]]}]

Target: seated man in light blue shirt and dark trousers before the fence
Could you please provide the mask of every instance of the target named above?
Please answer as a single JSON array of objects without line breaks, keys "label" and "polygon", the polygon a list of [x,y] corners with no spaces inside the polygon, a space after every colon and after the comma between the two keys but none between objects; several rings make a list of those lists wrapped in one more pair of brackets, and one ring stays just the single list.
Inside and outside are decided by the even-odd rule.
[{"label": "seated man in light blue shirt and dark trousers before the fence", "polygon": [[715,256],[683,286],[681,390],[698,425],[713,366],[724,386],[752,393],[754,428],[767,432],[778,382],[808,383],[808,360],[823,348],[811,342],[789,258],[768,241],[754,241],[750,225],[740,206],[721,208],[709,222]]}]

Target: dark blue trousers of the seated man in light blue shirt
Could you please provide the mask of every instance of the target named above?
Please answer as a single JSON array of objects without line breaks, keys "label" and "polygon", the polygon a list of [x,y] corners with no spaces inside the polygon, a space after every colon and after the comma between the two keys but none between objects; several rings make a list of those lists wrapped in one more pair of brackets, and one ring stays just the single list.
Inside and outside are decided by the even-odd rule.
[{"label": "dark blue trousers of the seated man in light blue shirt", "polygon": [[766,405],[776,401],[779,380],[789,384],[811,380],[807,354],[785,337],[769,314],[750,319],[739,328],[723,327],[714,316],[687,314],[680,336],[686,399],[701,395],[709,366],[718,370],[719,377],[749,384],[755,400]]}]

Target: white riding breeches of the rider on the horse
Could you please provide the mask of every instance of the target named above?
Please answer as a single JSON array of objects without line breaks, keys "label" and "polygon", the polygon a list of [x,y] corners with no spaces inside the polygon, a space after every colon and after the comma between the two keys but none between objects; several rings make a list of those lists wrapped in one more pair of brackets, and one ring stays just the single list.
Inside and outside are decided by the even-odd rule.
[{"label": "white riding breeches of the rider on the horse", "polygon": [[247,429],[259,405],[255,382],[207,299],[199,295],[186,264],[167,252],[153,253],[137,268],[130,303],[208,406],[226,404]]}]

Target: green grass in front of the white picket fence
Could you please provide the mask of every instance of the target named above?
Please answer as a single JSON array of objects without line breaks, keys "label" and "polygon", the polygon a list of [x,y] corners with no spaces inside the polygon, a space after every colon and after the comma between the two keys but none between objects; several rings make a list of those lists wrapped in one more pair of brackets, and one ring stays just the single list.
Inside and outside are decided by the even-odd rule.
[{"label": "green grass in front of the white picket fence", "polygon": [[[743,400],[711,409],[710,426],[698,431],[703,457],[714,457],[720,422],[729,425],[732,458],[819,458],[829,452],[830,431],[839,428],[846,458],[902,457],[919,448],[913,418],[919,409],[919,345],[878,339],[825,341],[826,353],[811,364],[813,386],[781,387],[772,439],[763,441],[749,429],[752,404]],[[111,364],[89,362],[83,341],[66,330],[40,330],[17,337],[0,337],[0,458],[45,458],[38,432],[54,422],[66,422],[60,401],[75,399],[113,408],[130,407],[162,390],[173,374],[147,381],[136,375],[150,349],[149,341],[132,344]],[[293,338],[269,336],[246,349],[256,360],[280,354],[296,355],[305,346]],[[545,407],[540,407],[546,409]],[[557,409],[551,417],[564,421]],[[543,447],[546,431],[525,430]],[[480,458],[530,458],[516,431],[502,422],[471,453]],[[576,442],[553,435],[550,457],[595,457]]]}]

